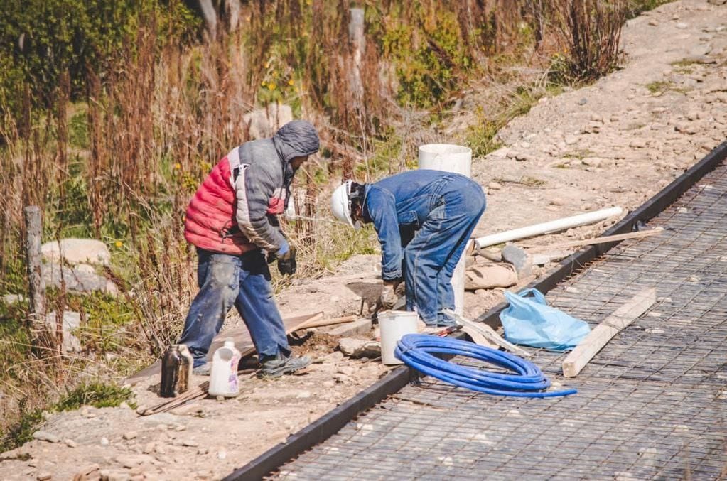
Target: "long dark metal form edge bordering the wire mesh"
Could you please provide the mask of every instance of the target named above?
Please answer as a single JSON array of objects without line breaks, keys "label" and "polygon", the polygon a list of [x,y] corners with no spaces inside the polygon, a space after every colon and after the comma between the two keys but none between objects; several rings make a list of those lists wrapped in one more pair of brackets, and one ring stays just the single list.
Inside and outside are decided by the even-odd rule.
[{"label": "long dark metal form edge bordering the wire mesh", "polygon": [[[641,221],[646,222],[648,219],[656,217],[657,214],[664,211],[672,202],[676,201],[680,195],[685,193],[696,182],[699,182],[704,175],[715,169],[716,166],[727,158],[727,142],[722,142],[715,147],[712,152],[707,154],[701,161],[696,163],[690,169],[685,171],[679,177],[674,179],[669,185],[664,187],[654,197],[643,203],[638,209],[630,212],[619,222],[616,222],[611,228],[603,233],[606,235],[615,235],[630,232],[633,226]],[[528,288],[537,288],[539,291],[546,293],[554,288],[561,281],[569,278],[574,273],[582,270],[586,264],[603,255],[616,246],[620,241],[611,243],[596,244],[595,246],[587,246],[575,252],[571,256],[563,259],[558,268],[547,275],[545,278],[530,283]],[[497,304],[488,312],[481,315],[477,320],[487,323],[490,326],[499,325],[499,312],[507,306],[506,303]],[[292,434],[286,442],[278,443],[269,450],[254,458],[248,464],[236,469],[234,472],[224,478],[224,481],[238,480],[260,480],[266,475],[274,472],[278,467],[287,461],[299,456],[306,450],[313,448],[320,442],[331,437],[345,426],[349,421],[353,420],[358,414],[374,407],[385,397],[393,395],[402,387],[418,376],[416,371],[406,366],[396,368],[387,376],[379,379],[370,387],[358,393],[358,395],[350,398],[350,400],[337,406],[328,413],[321,416],[307,427]]]}]

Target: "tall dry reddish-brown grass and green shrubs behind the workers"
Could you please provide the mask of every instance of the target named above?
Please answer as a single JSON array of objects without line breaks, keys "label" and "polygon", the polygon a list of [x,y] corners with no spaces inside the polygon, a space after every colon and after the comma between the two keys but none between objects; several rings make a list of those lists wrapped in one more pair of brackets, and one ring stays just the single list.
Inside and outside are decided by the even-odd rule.
[{"label": "tall dry reddish-brown grass and green shrubs behind the workers", "polygon": [[[120,402],[124,391],[103,383],[174,341],[196,290],[188,199],[249,140],[246,113],[281,102],[316,124],[323,149],[297,176],[296,209],[330,218],[342,177],[414,166],[422,143],[493,150],[497,130],[539,97],[616,68],[624,20],[664,1],[252,0],[214,36],[178,0],[3,3],[0,294],[27,292],[23,207],[37,205],[43,241],[111,247],[105,274],[121,295],[49,290],[49,310],[85,320],[73,356],[33,345],[26,302],[0,303],[0,450],[42,409]],[[364,9],[363,42],[349,34],[351,7]],[[448,132],[472,92],[481,102]],[[286,224],[303,276],[376,247],[369,230]]]}]

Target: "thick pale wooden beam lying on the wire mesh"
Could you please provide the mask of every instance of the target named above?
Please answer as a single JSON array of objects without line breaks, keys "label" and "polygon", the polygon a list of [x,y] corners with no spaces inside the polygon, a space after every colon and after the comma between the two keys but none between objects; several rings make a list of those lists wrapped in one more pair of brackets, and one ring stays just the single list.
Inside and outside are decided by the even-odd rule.
[{"label": "thick pale wooden beam lying on the wire mesh", "polygon": [[603,349],[611,338],[638,319],[654,302],[656,302],[656,289],[643,289],[604,319],[601,324],[595,326],[593,331],[590,331],[590,334],[563,361],[563,376],[577,376],[588,361]]}]

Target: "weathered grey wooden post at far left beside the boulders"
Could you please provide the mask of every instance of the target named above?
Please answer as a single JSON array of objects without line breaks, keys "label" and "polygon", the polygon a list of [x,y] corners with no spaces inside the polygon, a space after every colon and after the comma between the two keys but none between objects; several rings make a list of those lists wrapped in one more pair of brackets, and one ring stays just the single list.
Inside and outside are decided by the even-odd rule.
[{"label": "weathered grey wooden post at far left beside the boulders", "polygon": [[33,331],[33,338],[39,339],[41,333],[47,331],[45,281],[41,273],[41,209],[39,206],[28,206],[23,209],[25,218],[25,256],[28,259],[28,296],[30,312],[28,320]]}]

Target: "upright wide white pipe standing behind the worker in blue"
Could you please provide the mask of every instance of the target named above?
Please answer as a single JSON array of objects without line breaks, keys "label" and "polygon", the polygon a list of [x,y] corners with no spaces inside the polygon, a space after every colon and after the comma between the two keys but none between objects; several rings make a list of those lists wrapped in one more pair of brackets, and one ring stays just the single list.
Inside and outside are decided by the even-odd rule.
[{"label": "upright wide white pipe standing behind the worker in blue", "polygon": [[[441,170],[470,177],[472,149],[453,144],[427,144],[419,146],[419,169]],[[465,309],[465,256],[459,259],[452,275],[454,312],[462,315]]]}]

